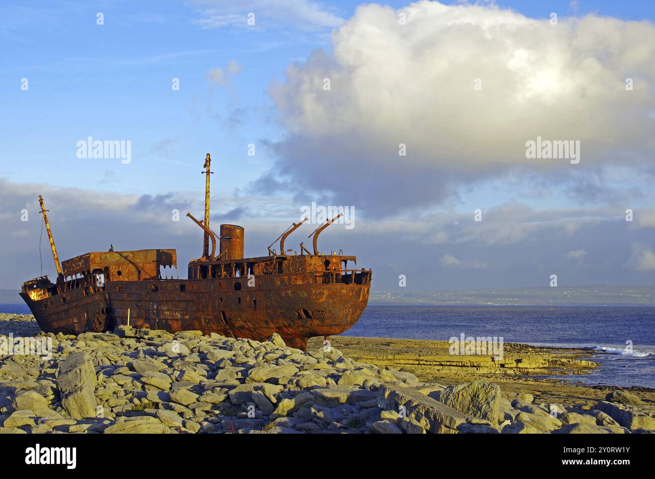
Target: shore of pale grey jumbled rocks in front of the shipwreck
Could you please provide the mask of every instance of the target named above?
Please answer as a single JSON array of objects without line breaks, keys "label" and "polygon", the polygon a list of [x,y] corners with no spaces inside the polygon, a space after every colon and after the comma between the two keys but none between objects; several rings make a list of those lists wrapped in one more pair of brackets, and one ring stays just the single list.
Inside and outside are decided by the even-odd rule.
[{"label": "shore of pale grey jumbled rocks in front of the shipwreck", "polygon": [[394,358],[383,364],[375,340],[375,354],[346,354],[357,349],[352,344],[342,352],[339,342],[352,338],[333,338],[330,347],[310,342],[305,353],[277,335],[257,342],[120,327],[75,337],[44,334],[31,316],[0,315],[0,340],[10,333],[50,338],[52,355],[0,355],[0,433],[655,431],[649,391],[616,388],[602,398],[545,402],[546,395],[525,391],[525,383],[512,389],[507,378],[517,375],[493,368],[472,378],[445,369],[437,381]]}]

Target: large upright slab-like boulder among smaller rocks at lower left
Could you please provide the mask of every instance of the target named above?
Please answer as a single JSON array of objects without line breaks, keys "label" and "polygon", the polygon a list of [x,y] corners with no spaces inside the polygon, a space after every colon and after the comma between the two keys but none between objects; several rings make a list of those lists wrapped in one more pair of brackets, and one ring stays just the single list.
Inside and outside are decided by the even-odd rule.
[{"label": "large upright slab-like boulder among smaller rocks at lower left", "polygon": [[96,417],[96,372],[88,353],[73,353],[59,364],[57,388],[70,417]]}]

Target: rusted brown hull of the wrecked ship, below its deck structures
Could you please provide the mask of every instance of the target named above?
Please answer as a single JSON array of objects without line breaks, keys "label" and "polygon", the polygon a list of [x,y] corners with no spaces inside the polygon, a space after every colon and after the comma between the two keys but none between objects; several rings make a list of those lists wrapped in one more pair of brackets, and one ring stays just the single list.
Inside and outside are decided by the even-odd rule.
[{"label": "rusted brown hull of the wrecked ship, below its deck structures", "polygon": [[[161,281],[111,281],[32,300],[28,304],[45,332],[80,334],[135,328],[200,330],[266,340],[274,332],[306,349],[312,336],[341,334],[362,315],[370,284],[293,284],[263,277]],[[285,284],[286,283],[286,284]]]}]

